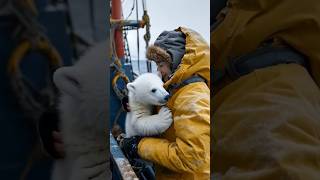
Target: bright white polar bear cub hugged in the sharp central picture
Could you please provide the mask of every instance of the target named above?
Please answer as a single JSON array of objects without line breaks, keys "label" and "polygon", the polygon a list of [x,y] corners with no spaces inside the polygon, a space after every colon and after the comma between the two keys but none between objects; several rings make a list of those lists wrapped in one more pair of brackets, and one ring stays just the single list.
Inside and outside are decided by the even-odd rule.
[{"label": "bright white polar bear cub hugged in the sharp central picture", "polygon": [[[163,106],[169,93],[163,82],[153,73],[144,73],[127,84],[131,112],[126,116],[126,137],[152,136],[163,133],[172,123],[171,111]],[[162,106],[159,113],[152,115],[153,106]]]}]

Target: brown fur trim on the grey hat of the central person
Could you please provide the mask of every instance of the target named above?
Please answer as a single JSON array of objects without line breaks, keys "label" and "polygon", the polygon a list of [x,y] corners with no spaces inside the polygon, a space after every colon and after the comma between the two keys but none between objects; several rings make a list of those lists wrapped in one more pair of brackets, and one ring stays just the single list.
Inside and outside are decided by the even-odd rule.
[{"label": "brown fur trim on the grey hat of the central person", "polygon": [[163,61],[172,63],[170,54],[167,53],[164,49],[160,48],[159,46],[149,46],[146,52],[146,57],[149,60],[154,61],[156,63]]}]

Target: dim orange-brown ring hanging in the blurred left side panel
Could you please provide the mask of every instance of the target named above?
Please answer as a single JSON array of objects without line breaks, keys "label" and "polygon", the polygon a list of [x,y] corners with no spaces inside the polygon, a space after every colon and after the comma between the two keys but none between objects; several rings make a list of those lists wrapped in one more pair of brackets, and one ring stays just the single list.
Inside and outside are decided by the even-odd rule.
[{"label": "dim orange-brown ring hanging in the blurred left side panel", "polygon": [[37,42],[35,46],[30,41],[24,40],[16,47],[9,58],[7,68],[12,90],[16,94],[18,103],[26,113],[26,116],[37,121],[45,111],[45,108],[54,103],[56,92],[54,92],[52,78],[47,79],[47,88],[42,92],[38,92],[33,88],[32,83],[22,75],[20,64],[23,58],[31,51],[40,52],[48,57],[49,77],[58,67],[62,66],[62,59],[57,50],[45,40]]}]

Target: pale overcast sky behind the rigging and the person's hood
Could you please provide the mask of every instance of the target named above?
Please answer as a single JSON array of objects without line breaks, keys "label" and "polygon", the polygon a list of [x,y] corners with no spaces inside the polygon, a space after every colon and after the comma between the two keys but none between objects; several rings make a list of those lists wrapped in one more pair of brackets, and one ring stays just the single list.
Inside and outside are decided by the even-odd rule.
[{"label": "pale overcast sky behind the rigging and the person's hood", "polygon": [[[123,0],[123,15],[126,18],[135,0]],[[139,19],[143,15],[142,0],[139,3]],[[164,30],[174,30],[179,26],[191,28],[200,33],[209,44],[210,42],[210,0],[146,0],[150,16],[151,40]],[[136,10],[129,19],[136,19]],[[140,59],[145,59],[145,29],[139,30]],[[132,59],[137,58],[137,32],[132,30],[128,34],[128,41]]]}]

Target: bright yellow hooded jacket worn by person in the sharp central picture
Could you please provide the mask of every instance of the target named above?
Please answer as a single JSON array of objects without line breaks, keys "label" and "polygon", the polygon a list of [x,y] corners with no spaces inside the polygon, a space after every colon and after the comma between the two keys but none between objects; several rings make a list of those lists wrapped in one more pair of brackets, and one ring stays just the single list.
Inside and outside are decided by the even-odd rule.
[{"label": "bright yellow hooded jacket worn by person in the sharp central picture", "polygon": [[[179,83],[198,74],[210,84],[210,52],[198,33],[178,28],[186,35],[186,53],[165,83]],[[167,103],[172,126],[162,137],[143,138],[138,154],[154,162],[157,179],[209,179],[210,175],[210,90],[206,83],[191,83],[178,89]]]}]

